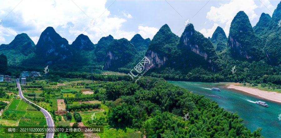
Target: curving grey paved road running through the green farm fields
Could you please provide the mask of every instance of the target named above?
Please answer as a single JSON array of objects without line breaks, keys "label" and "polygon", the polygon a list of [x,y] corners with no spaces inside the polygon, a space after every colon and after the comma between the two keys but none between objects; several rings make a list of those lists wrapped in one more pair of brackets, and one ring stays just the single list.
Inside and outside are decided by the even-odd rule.
[{"label": "curving grey paved road running through the green farm fields", "polygon": [[[23,97],[23,94],[22,94],[22,89],[21,89],[21,86],[20,86],[20,83],[19,83],[19,79],[17,79],[17,88],[19,89],[18,90],[18,95],[22,98],[22,99],[25,99],[26,101],[29,101],[29,100],[27,100],[25,97]],[[29,102],[31,102],[31,101],[29,101]],[[33,102],[31,102],[31,103],[33,103]],[[33,104],[35,104],[35,103],[33,103]],[[35,104],[35,105],[37,105],[37,104]],[[37,105],[38,106],[38,105]],[[38,106],[38,107],[40,107],[40,106]],[[48,125],[48,128],[54,128],[54,121],[53,121],[53,118],[52,118],[52,116],[51,116],[51,114],[48,112],[48,111],[46,111],[44,108],[42,108],[42,107],[40,107],[41,108],[41,112],[43,112],[43,114],[44,114],[44,116],[45,116],[45,118],[46,118],[46,121],[47,121],[47,125]],[[47,132],[47,136],[46,136],[46,138],[53,138],[54,137],[54,133],[52,133],[52,132]]]}]

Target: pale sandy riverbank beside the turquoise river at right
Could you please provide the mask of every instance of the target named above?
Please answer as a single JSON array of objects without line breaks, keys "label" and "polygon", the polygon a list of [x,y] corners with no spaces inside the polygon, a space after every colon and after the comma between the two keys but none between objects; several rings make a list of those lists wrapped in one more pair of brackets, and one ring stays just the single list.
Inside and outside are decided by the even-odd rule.
[{"label": "pale sandy riverbank beside the turquoise river at right", "polygon": [[249,93],[249,94],[258,96],[260,98],[264,98],[266,100],[281,103],[281,93],[262,91],[262,90],[255,89],[255,88],[235,86],[235,85],[232,85],[232,84],[230,84],[227,88],[239,90],[239,91],[242,91],[242,92],[245,92],[245,93]]}]

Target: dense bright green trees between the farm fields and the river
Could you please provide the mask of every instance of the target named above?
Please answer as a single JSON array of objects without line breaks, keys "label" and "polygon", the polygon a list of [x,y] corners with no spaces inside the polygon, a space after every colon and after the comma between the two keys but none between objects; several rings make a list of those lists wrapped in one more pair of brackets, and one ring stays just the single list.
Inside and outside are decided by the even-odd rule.
[{"label": "dense bright green trees between the farm fields and the river", "polygon": [[[90,77],[74,73],[61,75]],[[243,126],[243,119],[236,113],[225,111],[209,98],[191,93],[164,79],[143,77],[137,83],[132,83],[128,76],[97,74],[94,78],[100,82],[84,85],[87,88],[105,88],[105,91],[84,98],[64,99],[68,104],[67,110],[72,112],[76,109],[80,111],[81,108],[98,108],[98,104],[73,104],[75,101],[88,101],[92,98],[104,101],[102,103],[110,107],[105,118],[88,120],[89,126],[108,124],[118,128],[132,127],[148,138],[261,136],[259,132],[262,128],[251,132]],[[105,102],[111,100],[113,102]],[[183,118],[186,113],[190,117],[187,121]]]}]

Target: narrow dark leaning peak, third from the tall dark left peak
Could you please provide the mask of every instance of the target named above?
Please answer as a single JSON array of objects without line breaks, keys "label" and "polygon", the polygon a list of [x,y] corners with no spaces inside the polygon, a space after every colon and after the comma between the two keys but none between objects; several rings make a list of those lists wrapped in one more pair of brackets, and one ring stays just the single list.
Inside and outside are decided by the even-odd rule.
[{"label": "narrow dark leaning peak, third from the tall dark left peak", "polygon": [[102,37],[96,44],[95,54],[97,62],[102,62],[106,57],[106,50],[108,45],[114,40],[113,36],[109,35]]}]

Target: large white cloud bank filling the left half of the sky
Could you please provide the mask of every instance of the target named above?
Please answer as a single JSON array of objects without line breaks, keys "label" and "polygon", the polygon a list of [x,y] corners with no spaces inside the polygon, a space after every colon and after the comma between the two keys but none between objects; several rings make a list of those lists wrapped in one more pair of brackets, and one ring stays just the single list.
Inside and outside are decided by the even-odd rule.
[{"label": "large white cloud bank filling the left half of the sky", "polygon": [[[93,43],[106,36],[104,33],[111,34],[115,39],[123,37],[130,39],[135,33],[121,29],[122,23],[126,22],[126,19],[109,17],[110,11],[105,7],[106,0],[73,0],[73,2],[24,0],[19,2],[18,0],[1,2],[0,17],[7,16],[14,8],[5,18],[6,21],[10,21],[9,25],[5,26],[5,20],[2,20],[3,26],[7,27],[14,36],[17,33],[27,33],[34,42],[48,26],[52,26],[57,31],[64,31],[64,33],[61,33],[64,35],[62,37],[70,42],[75,40],[73,35],[77,37],[83,32],[84,35],[89,36]],[[126,15],[126,18],[132,18],[128,12],[124,15]],[[90,22],[97,18],[99,21],[96,26],[91,27]],[[69,24],[70,22],[71,24]],[[11,35],[5,28],[6,31],[1,28],[3,27],[0,27],[0,36]]]}]

